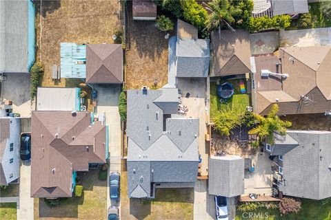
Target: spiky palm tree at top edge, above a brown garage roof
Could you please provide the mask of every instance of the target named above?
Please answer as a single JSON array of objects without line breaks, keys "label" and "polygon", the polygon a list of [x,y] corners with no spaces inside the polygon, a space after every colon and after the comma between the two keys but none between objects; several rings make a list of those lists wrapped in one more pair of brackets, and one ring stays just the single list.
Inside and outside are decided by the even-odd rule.
[{"label": "spiky palm tree at top edge, above a brown garage roof", "polygon": [[205,10],[210,12],[208,19],[205,23],[208,32],[216,28],[219,28],[219,26],[222,23],[227,25],[228,28],[233,32],[235,31],[231,27],[230,23],[235,22],[232,16],[234,14],[240,13],[239,12],[240,9],[236,9],[232,7],[228,0],[213,0],[208,3],[203,2],[203,6]]}]

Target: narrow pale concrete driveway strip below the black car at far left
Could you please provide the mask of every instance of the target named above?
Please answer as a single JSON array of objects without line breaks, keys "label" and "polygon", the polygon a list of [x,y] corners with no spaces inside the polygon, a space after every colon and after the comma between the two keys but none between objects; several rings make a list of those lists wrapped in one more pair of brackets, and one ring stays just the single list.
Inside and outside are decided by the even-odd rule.
[{"label": "narrow pale concrete driveway strip below the black car at far left", "polygon": [[30,197],[31,166],[30,162],[22,162],[19,178],[19,203],[17,220],[33,219],[33,198]]}]

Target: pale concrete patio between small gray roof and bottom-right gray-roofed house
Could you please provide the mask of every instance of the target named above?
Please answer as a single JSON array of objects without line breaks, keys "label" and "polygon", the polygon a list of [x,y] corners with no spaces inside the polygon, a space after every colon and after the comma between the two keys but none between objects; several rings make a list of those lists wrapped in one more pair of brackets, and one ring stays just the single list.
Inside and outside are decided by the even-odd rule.
[{"label": "pale concrete patio between small gray roof and bottom-right gray-roofed house", "polygon": [[272,161],[268,158],[268,153],[258,151],[252,155],[252,165],[254,172],[245,171],[244,195],[257,193],[260,195],[271,195],[272,192]]}]

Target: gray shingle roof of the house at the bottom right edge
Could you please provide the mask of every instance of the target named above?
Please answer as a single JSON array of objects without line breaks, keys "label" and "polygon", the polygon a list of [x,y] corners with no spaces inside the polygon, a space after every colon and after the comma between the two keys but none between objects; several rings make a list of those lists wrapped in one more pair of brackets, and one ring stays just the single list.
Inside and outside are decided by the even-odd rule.
[{"label": "gray shingle roof of the house at the bottom right edge", "polygon": [[283,155],[283,195],[324,199],[331,197],[331,132],[288,131],[299,146]]}]

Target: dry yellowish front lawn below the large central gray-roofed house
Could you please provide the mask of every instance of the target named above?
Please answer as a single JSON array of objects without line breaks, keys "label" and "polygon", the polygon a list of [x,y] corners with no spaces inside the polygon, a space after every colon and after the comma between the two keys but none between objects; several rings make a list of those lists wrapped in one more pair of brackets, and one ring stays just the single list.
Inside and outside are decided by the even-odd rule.
[{"label": "dry yellowish front lawn below the large central gray-roofed house", "polygon": [[193,188],[159,188],[156,199],[129,199],[121,172],[121,219],[193,219]]}]

